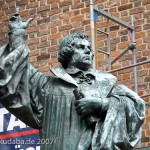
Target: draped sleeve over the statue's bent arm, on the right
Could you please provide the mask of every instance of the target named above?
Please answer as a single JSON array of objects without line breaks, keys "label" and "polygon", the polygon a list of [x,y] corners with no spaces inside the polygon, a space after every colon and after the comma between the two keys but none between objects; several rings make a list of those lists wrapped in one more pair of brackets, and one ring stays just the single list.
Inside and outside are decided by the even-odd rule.
[{"label": "draped sleeve over the statue's bent arm, on the right", "polygon": [[[120,127],[126,131],[127,137],[129,139],[128,141],[130,145],[134,147],[141,138],[141,126],[145,119],[145,102],[137,95],[137,93],[124,85],[116,86],[110,97],[112,98],[111,108],[118,110],[121,118],[124,118],[122,121],[124,120],[125,122],[123,124],[126,125],[120,125]],[[110,110],[109,114],[111,114],[111,112],[113,112],[113,110]],[[108,118],[110,118],[109,114]],[[116,121],[121,123],[119,117],[117,117]]]}]

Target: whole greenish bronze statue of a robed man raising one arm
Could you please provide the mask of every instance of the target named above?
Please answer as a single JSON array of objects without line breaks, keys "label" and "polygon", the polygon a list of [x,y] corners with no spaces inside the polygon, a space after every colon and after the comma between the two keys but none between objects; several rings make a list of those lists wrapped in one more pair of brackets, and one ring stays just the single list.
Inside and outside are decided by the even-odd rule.
[{"label": "whole greenish bronze statue of a robed man raising one arm", "polygon": [[140,139],[144,101],[113,75],[92,69],[93,50],[85,33],[63,38],[62,67],[46,76],[29,62],[19,11],[9,20],[9,42],[0,48],[0,103],[41,139],[41,150],[130,150]]}]

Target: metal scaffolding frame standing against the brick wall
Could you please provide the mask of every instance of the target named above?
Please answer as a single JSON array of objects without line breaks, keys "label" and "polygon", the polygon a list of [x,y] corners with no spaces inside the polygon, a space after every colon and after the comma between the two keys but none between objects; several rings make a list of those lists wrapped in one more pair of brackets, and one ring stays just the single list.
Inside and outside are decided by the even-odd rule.
[{"label": "metal scaffolding frame standing against the brick wall", "polygon": [[[102,15],[105,18],[107,18],[107,28],[106,28],[107,31],[106,32],[97,29],[96,22],[97,22],[99,15]],[[98,60],[97,60],[98,52],[107,55],[107,57],[108,57],[108,72],[110,72],[110,73],[124,70],[124,69],[128,69],[128,68],[133,68],[134,90],[135,90],[135,92],[138,93],[137,66],[143,65],[145,63],[150,63],[150,60],[139,62],[139,63],[136,62],[136,42],[135,42],[134,17],[131,16],[131,24],[128,24],[125,21],[122,21],[121,19],[119,19],[115,16],[112,16],[110,13],[102,10],[101,8],[94,6],[93,0],[90,0],[90,17],[91,17],[91,43],[92,43],[92,48],[94,49],[94,52],[95,52],[93,68],[98,69]],[[125,27],[128,30],[128,33],[129,33],[129,36],[131,39],[131,44],[112,61],[111,61],[111,55],[110,55],[110,27],[109,27],[109,21],[110,20],[123,26],[123,27]],[[102,51],[102,50],[97,50],[98,48],[96,47],[96,43],[97,43],[97,34],[98,33],[103,33],[107,36],[107,52]],[[120,59],[124,54],[126,54],[129,50],[131,50],[131,52],[132,52],[132,65],[111,70],[111,66],[118,59]],[[147,97],[147,96],[150,96],[150,94],[142,95],[141,97]]]}]

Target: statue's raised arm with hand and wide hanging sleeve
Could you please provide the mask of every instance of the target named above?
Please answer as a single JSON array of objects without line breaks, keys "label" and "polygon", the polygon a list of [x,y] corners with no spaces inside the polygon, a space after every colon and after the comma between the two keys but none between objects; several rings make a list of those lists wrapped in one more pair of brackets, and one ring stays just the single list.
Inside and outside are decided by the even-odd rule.
[{"label": "statue's raised arm with hand and wide hanging sleeve", "polygon": [[46,77],[29,63],[25,29],[31,20],[22,22],[18,9],[9,20],[9,42],[0,48],[0,102],[29,126],[40,128],[42,105],[33,93]]}]

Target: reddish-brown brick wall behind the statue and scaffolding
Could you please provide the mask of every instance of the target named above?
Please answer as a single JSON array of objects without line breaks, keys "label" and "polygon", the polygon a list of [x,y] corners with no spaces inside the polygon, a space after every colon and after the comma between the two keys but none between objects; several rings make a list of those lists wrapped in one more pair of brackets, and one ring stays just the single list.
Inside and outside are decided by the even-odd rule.
[{"label": "reddish-brown brick wall behind the statue and scaffolding", "polygon": [[[137,62],[150,59],[150,0],[95,0],[95,5],[107,10],[112,15],[130,23],[130,16],[135,17]],[[30,47],[30,61],[46,74],[49,67],[58,66],[57,51],[61,39],[77,31],[90,35],[89,0],[0,0],[0,46],[8,41],[8,18],[20,7],[23,20],[33,17],[27,30],[27,41]],[[97,27],[106,30],[106,19],[98,18]],[[110,22],[111,59],[123,51],[130,43],[127,30]],[[106,36],[98,35],[97,47],[106,50]],[[130,65],[132,55],[129,51],[112,69]],[[99,69],[107,70],[107,57],[98,53]],[[150,93],[150,64],[137,67],[139,95]],[[114,73],[118,83],[133,89],[133,69]],[[144,98],[146,103],[150,97]],[[150,145],[150,109],[147,105],[146,120],[143,125],[142,145]]]}]

